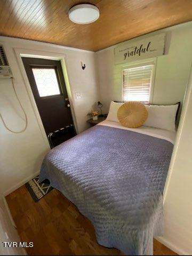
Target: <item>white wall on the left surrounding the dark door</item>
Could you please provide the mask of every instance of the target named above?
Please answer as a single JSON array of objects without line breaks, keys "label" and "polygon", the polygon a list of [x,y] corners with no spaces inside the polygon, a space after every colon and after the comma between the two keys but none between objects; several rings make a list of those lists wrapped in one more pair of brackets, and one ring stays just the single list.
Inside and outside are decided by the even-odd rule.
[{"label": "white wall on the left surrounding the dark door", "polygon": [[[5,47],[15,79],[15,88],[28,117],[27,130],[19,134],[7,131],[0,121],[0,190],[7,194],[34,177],[49,150],[34,99],[30,100],[29,97],[31,90],[19,53],[43,54],[50,58],[65,57],[71,90],[70,103],[78,132],[89,127],[86,124],[86,114],[99,99],[93,52],[9,37],[0,37],[0,43]],[[86,65],[84,70],[81,68],[81,61]],[[77,100],[75,92],[80,92],[82,98]],[[10,80],[0,79],[0,111],[11,129],[18,131],[25,125]]]}]

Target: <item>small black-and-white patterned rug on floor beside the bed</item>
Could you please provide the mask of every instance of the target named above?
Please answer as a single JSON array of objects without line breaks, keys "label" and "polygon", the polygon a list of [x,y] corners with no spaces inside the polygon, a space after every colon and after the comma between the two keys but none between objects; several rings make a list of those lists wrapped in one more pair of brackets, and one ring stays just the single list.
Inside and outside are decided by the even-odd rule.
[{"label": "small black-and-white patterned rug on floor beside the bed", "polygon": [[39,199],[53,189],[49,180],[44,180],[44,183],[39,183],[39,175],[29,180],[25,185],[35,202],[39,201]]}]

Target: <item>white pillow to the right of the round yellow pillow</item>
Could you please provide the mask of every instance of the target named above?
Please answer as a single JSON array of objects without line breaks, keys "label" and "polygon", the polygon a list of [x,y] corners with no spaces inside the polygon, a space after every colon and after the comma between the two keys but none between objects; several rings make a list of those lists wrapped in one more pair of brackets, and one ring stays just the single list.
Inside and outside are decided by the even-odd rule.
[{"label": "white pillow to the right of the round yellow pillow", "polygon": [[144,126],[155,127],[163,130],[175,131],[175,116],[178,104],[164,105],[145,105],[148,110],[148,117]]}]

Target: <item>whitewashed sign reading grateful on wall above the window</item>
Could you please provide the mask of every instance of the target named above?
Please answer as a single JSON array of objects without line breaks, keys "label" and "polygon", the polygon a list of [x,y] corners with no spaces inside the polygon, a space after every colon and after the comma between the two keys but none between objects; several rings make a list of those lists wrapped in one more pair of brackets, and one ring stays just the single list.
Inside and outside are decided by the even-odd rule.
[{"label": "whitewashed sign reading grateful on wall above the window", "polygon": [[164,48],[165,33],[140,39],[134,43],[123,43],[114,49],[115,65],[163,55]]}]

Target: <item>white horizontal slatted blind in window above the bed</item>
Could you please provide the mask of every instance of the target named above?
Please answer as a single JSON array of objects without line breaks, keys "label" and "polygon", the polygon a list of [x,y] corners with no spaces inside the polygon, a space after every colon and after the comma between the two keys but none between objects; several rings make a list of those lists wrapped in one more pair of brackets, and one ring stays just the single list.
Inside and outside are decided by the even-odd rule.
[{"label": "white horizontal slatted blind in window above the bed", "polygon": [[149,102],[154,65],[123,70],[123,101]]}]

